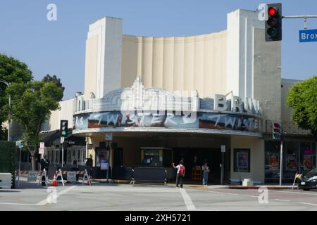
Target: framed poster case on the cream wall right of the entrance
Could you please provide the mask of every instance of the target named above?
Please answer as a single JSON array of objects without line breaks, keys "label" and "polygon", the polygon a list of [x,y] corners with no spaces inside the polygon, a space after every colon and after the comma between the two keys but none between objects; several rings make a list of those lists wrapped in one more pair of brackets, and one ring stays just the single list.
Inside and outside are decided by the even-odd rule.
[{"label": "framed poster case on the cream wall right of the entrance", "polygon": [[249,149],[234,149],[234,172],[250,172]]}]

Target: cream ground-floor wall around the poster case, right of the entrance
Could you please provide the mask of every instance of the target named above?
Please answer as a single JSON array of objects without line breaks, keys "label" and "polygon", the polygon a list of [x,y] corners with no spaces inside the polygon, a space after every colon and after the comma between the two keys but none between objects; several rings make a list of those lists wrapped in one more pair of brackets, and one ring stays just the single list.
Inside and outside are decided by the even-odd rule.
[{"label": "cream ground-floor wall around the poster case, right of the entrance", "polygon": [[[232,136],[231,137],[231,179],[253,179],[264,183],[264,140]],[[250,149],[250,172],[234,172],[234,150],[235,148]]]}]

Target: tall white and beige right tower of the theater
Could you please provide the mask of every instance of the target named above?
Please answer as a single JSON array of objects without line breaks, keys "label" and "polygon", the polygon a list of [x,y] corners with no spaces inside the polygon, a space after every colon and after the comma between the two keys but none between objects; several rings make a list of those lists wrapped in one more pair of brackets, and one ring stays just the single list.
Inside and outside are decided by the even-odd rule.
[{"label": "tall white and beige right tower of the theater", "polygon": [[281,41],[264,40],[258,13],[228,13],[227,91],[259,100],[265,120],[280,120]]}]

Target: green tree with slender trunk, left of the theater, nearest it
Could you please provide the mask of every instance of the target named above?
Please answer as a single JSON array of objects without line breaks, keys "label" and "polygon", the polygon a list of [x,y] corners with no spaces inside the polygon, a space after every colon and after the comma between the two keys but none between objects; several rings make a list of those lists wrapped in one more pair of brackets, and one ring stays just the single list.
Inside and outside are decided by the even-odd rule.
[{"label": "green tree with slender trunk, left of the theater, nearest it", "polygon": [[27,84],[13,83],[7,91],[11,94],[13,120],[22,127],[22,139],[32,156],[32,169],[35,169],[39,131],[51,111],[58,109],[63,89],[54,82],[32,81]]}]

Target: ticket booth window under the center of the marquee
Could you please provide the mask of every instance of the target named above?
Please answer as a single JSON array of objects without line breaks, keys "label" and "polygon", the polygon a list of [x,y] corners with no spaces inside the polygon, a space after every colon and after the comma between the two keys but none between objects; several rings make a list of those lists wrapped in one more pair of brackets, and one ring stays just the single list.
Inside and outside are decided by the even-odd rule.
[{"label": "ticket booth window under the center of the marquee", "polygon": [[141,167],[170,167],[172,152],[168,148],[141,148]]}]

